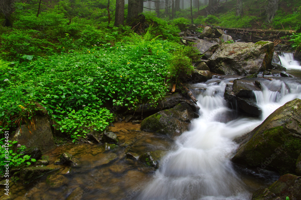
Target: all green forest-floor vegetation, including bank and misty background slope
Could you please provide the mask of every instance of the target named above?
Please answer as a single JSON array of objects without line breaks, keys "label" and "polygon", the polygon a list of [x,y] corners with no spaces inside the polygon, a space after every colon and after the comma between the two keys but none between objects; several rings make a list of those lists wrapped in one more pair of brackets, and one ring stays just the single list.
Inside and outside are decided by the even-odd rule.
[{"label": "all green forest-floor vegetation, including bank and misty background slope", "polygon": [[[150,27],[138,35],[127,26],[128,5],[124,25],[114,26],[116,1],[109,7],[104,0],[14,1],[9,23],[0,16],[6,25],[0,26],[0,128],[34,127],[37,102],[73,142],[91,130],[104,131],[112,110],[157,102],[171,83],[190,75],[196,51],[179,43],[178,32],[191,24],[191,16],[197,30],[205,24],[297,29],[301,3],[279,2],[271,23],[264,22],[266,2],[254,0],[244,2],[241,16],[234,0],[221,1],[209,14],[202,1],[174,14],[171,8],[144,12]],[[300,38],[291,38],[296,48]]]}]

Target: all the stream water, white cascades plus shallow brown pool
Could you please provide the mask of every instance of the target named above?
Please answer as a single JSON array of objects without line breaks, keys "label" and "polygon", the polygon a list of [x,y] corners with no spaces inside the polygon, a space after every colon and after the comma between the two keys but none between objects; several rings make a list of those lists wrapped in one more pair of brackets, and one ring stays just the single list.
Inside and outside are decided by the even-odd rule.
[{"label": "all the stream water, white cascades plus shallow brown pool", "polygon": [[[281,58],[284,63],[282,59],[286,58]],[[301,69],[299,63],[286,63]],[[263,111],[261,118],[250,118],[230,109],[224,100],[226,85],[236,78],[241,77],[216,76],[188,85],[200,106],[200,117],[192,121],[191,131],[171,139],[140,131],[139,125],[116,123],[111,131],[120,139],[117,150],[105,151],[102,144],[57,147],[48,152],[49,166],[59,168],[55,173],[66,181],[50,187],[44,176],[27,186],[12,186],[11,194],[24,200],[64,200],[80,187],[84,192],[78,199],[82,200],[249,200],[252,192],[271,184],[278,175],[234,166],[230,159],[238,145],[233,139],[256,128],[284,103],[301,98],[301,84],[299,78],[273,76],[262,84],[262,91],[254,91]],[[272,86],[280,89],[270,91]],[[141,155],[156,150],[163,155],[156,171],[125,156],[129,151]],[[54,165],[62,152],[78,158],[79,167]]]}]

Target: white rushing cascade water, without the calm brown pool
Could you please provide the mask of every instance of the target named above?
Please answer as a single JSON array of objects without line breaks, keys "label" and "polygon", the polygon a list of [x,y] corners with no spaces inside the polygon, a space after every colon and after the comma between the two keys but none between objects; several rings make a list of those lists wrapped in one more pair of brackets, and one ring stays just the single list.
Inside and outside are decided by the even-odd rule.
[{"label": "white rushing cascade water, without the calm brown pool", "polygon": [[[281,63],[293,69],[293,61]],[[294,66],[295,65],[295,66]],[[301,70],[301,67],[300,67]],[[301,98],[301,83],[296,78],[278,77],[261,84],[254,91],[260,119],[234,116],[226,106],[225,86],[235,78],[212,79],[191,85],[200,106],[200,117],[192,121],[191,131],[176,138],[175,150],[161,160],[153,179],[136,197],[137,200],[248,200],[252,194],[235,171],[230,159],[238,145],[232,140],[260,125],[277,108],[295,98]],[[228,121],[220,120],[226,116]]]}]

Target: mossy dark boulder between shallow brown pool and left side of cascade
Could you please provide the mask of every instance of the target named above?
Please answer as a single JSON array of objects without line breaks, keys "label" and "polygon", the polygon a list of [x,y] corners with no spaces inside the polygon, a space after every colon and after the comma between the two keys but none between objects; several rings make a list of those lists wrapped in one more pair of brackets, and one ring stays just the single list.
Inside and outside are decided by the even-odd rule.
[{"label": "mossy dark boulder between shallow brown pool and left side of cascade", "polygon": [[171,137],[178,136],[190,129],[193,118],[194,112],[191,107],[187,103],[181,102],[172,109],[162,110],[145,118],[141,123],[141,130]]}]

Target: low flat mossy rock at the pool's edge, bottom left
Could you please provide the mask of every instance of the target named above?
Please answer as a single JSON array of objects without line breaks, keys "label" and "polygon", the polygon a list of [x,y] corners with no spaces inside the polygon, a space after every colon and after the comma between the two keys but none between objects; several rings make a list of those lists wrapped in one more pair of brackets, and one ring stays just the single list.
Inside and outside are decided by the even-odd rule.
[{"label": "low flat mossy rock at the pool's edge, bottom left", "polygon": [[28,184],[34,181],[35,179],[42,177],[43,175],[56,170],[55,168],[48,167],[29,167],[23,168],[20,171],[20,180],[23,184]]}]

